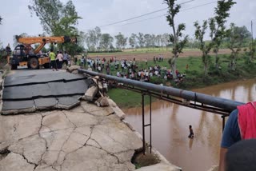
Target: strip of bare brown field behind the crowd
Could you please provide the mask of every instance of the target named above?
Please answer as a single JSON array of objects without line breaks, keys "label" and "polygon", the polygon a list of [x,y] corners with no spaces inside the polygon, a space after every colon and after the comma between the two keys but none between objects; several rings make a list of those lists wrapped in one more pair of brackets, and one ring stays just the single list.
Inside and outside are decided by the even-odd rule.
[{"label": "strip of bare brown field behind the crowd", "polygon": [[[228,49],[223,49],[223,50],[219,50],[218,54],[230,54],[230,50]],[[110,60],[110,58],[118,58],[120,59],[126,59],[128,61],[133,60],[134,58],[136,59],[136,61],[145,61],[147,60],[153,60],[154,56],[158,57],[159,54],[162,54],[164,58],[171,58],[173,56],[173,54],[171,52],[164,52],[164,53],[145,53],[145,54],[103,54],[103,55],[98,55],[98,58],[106,58],[106,60]],[[210,53],[210,54],[214,54],[214,53]],[[183,54],[180,54],[179,57],[201,57],[202,56],[202,52],[199,50],[186,50],[184,51]],[[96,58],[96,55],[89,55],[88,58]]]}]

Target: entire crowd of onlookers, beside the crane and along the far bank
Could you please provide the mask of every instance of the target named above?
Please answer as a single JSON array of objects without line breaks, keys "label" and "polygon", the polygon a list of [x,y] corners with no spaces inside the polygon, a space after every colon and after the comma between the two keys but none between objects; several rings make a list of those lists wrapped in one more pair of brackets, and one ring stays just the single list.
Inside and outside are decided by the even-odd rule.
[{"label": "entire crowd of onlookers, beside the crane and along the far bank", "polygon": [[[70,56],[64,52],[62,54],[61,51],[57,52],[57,56],[53,57],[53,54],[50,53],[50,66],[54,70],[58,70],[62,68],[62,64],[65,63],[66,66],[70,65]],[[127,60],[127,59],[118,59],[116,57],[112,57],[109,60],[106,58],[85,58],[82,55],[80,58],[79,65],[84,68],[86,67],[88,70],[94,70],[98,73],[103,73],[105,71],[106,74],[113,74],[116,72],[116,76],[120,78],[129,78],[133,80],[138,80],[141,82],[150,82],[151,78],[162,78],[165,81],[171,81],[174,79],[173,72],[171,70],[166,70],[166,67],[161,67],[157,62],[163,62],[163,55],[159,54],[157,57],[154,56],[153,62],[154,65],[148,66],[148,60],[145,59],[144,67],[138,68],[138,63],[136,58]],[[77,64],[77,60],[74,61]],[[186,77],[186,74],[181,74],[178,70],[175,70],[177,78],[174,79],[176,84],[179,84]]]}]

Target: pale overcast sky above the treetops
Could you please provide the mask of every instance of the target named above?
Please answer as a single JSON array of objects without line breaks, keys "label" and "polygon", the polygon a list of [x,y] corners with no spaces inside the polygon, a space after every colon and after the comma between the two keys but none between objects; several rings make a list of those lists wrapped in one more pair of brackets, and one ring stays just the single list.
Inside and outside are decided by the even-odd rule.
[{"label": "pale overcast sky above the treetops", "polygon": [[[178,0],[178,3],[188,2],[189,0]],[[216,1],[216,0],[215,0]],[[181,11],[176,23],[186,24],[186,34],[192,38],[194,36],[195,21],[202,23],[202,20],[213,17],[214,0],[194,0],[182,5]],[[66,3],[67,0],[62,0]],[[107,24],[133,18],[142,14],[147,14],[155,10],[166,8],[162,0],[73,0],[78,11],[78,15],[82,17],[78,23],[78,29],[86,31],[93,29],[95,26],[105,26]],[[215,2],[210,5],[193,8],[206,3]],[[235,0],[237,4],[230,11],[228,24],[234,22],[237,26],[246,26],[250,30],[250,22],[254,22],[254,38],[256,36],[256,0]],[[16,34],[26,33],[29,35],[42,34],[42,26],[39,19],[33,15],[31,17],[27,6],[30,0],[8,0],[5,5],[0,6],[0,16],[3,21],[0,25],[0,42],[2,46],[6,46],[8,42],[13,45],[13,36]],[[190,9],[193,8],[193,9]],[[187,10],[190,9],[190,10]],[[160,11],[155,14],[146,15],[131,21],[122,22],[112,26],[102,27],[102,33],[109,33],[112,36],[121,32],[126,36],[138,32],[143,34],[163,34],[171,33],[170,26],[166,22],[166,17],[158,17],[166,14],[166,11]],[[148,19],[154,18],[154,19]],[[148,19],[148,20],[146,20]],[[143,22],[138,22],[142,21]],[[131,22],[136,22],[130,24]]]}]

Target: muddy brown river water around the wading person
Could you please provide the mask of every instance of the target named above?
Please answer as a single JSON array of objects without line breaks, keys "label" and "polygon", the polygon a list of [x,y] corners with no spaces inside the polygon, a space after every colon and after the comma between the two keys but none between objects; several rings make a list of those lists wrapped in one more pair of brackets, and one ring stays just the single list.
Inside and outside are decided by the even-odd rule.
[{"label": "muddy brown river water around the wading person", "polygon": [[[256,101],[256,79],[229,82],[203,89],[193,89],[214,97],[234,101]],[[149,106],[145,107],[146,124]],[[126,120],[142,134],[142,108],[122,109]],[[188,138],[189,125],[194,129],[194,139]],[[149,141],[149,127],[146,141]],[[214,113],[174,105],[166,101],[152,103],[152,145],[170,163],[185,171],[206,171],[218,165],[222,137],[222,118]]]}]

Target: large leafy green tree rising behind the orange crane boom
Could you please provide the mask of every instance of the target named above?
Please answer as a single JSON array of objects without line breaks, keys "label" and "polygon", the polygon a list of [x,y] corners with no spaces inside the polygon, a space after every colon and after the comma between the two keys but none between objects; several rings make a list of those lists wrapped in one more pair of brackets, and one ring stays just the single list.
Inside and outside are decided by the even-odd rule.
[{"label": "large leafy green tree rising behind the orange crane boom", "polygon": [[[32,0],[28,8],[31,14],[36,14],[40,19],[42,28],[47,34],[53,36],[74,36],[80,34],[75,26],[78,25],[78,19],[81,18],[78,16],[71,0],[66,2],[66,4],[63,4],[60,0]],[[70,54],[75,54],[73,53],[74,50],[82,49],[79,46],[82,45],[65,44],[58,45],[58,48],[65,49]]]}]

